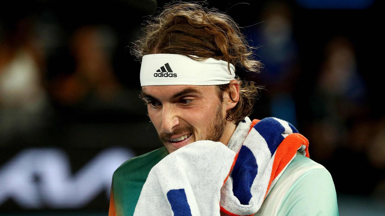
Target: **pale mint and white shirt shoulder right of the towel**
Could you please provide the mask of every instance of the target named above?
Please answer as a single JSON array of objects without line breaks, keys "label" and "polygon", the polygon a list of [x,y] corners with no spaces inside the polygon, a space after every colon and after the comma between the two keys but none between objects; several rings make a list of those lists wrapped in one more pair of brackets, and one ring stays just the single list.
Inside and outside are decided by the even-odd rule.
[{"label": "pale mint and white shirt shoulder right of the towel", "polygon": [[[313,209],[306,209],[310,207]],[[308,215],[338,215],[330,173],[297,152],[255,215],[298,215],[299,211],[308,211]]]}]

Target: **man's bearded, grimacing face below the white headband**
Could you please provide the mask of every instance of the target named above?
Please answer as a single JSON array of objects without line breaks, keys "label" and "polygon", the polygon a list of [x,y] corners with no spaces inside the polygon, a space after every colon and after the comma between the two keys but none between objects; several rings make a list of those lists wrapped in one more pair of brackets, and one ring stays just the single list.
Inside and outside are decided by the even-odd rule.
[{"label": "man's bearded, grimacing face below the white headband", "polygon": [[169,153],[198,140],[220,141],[226,111],[216,86],[143,86],[148,114]]}]

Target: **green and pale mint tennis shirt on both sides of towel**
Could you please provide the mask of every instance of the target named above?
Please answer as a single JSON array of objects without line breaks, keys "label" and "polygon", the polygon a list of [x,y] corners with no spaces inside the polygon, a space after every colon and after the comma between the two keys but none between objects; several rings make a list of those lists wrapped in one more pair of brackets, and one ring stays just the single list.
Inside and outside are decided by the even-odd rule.
[{"label": "green and pale mint tennis shirt on both sides of towel", "polygon": [[[153,166],[167,156],[165,147],[123,163],[112,177],[109,216],[132,216],[142,187]],[[330,173],[297,153],[269,191],[256,216],[338,216]]]}]

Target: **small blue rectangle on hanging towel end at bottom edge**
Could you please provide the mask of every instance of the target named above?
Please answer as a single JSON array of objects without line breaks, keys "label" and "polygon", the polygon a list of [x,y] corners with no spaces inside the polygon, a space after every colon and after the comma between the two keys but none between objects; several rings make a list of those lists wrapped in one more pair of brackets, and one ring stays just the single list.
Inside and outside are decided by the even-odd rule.
[{"label": "small blue rectangle on hanging towel end at bottom edge", "polygon": [[191,209],[187,203],[187,196],[184,189],[172,189],[167,192],[167,199],[171,204],[174,216],[192,216]]}]

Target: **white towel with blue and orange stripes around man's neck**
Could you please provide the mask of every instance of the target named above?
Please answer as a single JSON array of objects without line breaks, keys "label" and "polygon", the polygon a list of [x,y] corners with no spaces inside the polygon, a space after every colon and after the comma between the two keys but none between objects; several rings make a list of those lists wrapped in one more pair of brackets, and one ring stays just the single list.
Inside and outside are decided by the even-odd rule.
[{"label": "white towel with blue and orange stripes around man's neck", "polygon": [[230,143],[196,141],[163,158],[151,169],[134,216],[253,215],[296,152],[309,157],[308,140],[278,118],[246,117]]}]

